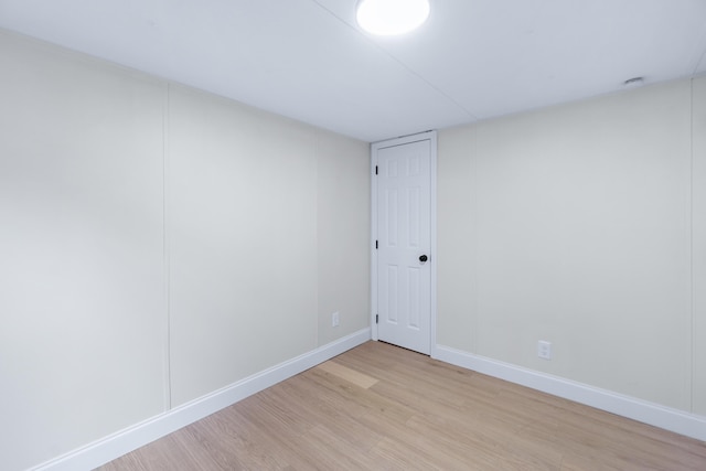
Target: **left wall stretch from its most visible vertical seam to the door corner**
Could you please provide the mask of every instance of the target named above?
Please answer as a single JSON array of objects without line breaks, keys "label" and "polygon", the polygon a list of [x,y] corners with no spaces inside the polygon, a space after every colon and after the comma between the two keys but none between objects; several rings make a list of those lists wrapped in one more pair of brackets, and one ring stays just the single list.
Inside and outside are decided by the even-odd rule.
[{"label": "left wall stretch from its most visible vertical seam to the door corner", "polygon": [[180,86],[168,122],[172,406],[367,325],[367,147]]}]

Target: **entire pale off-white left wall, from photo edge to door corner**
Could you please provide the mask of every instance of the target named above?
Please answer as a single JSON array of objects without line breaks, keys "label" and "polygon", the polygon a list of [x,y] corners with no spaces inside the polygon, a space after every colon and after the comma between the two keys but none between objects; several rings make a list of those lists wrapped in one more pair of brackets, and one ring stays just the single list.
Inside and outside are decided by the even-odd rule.
[{"label": "entire pale off-white left wall, from photo edge to door corner", "polygon": [[367,327],[366,143],[6,32],[0,69],[0,468]]}]

